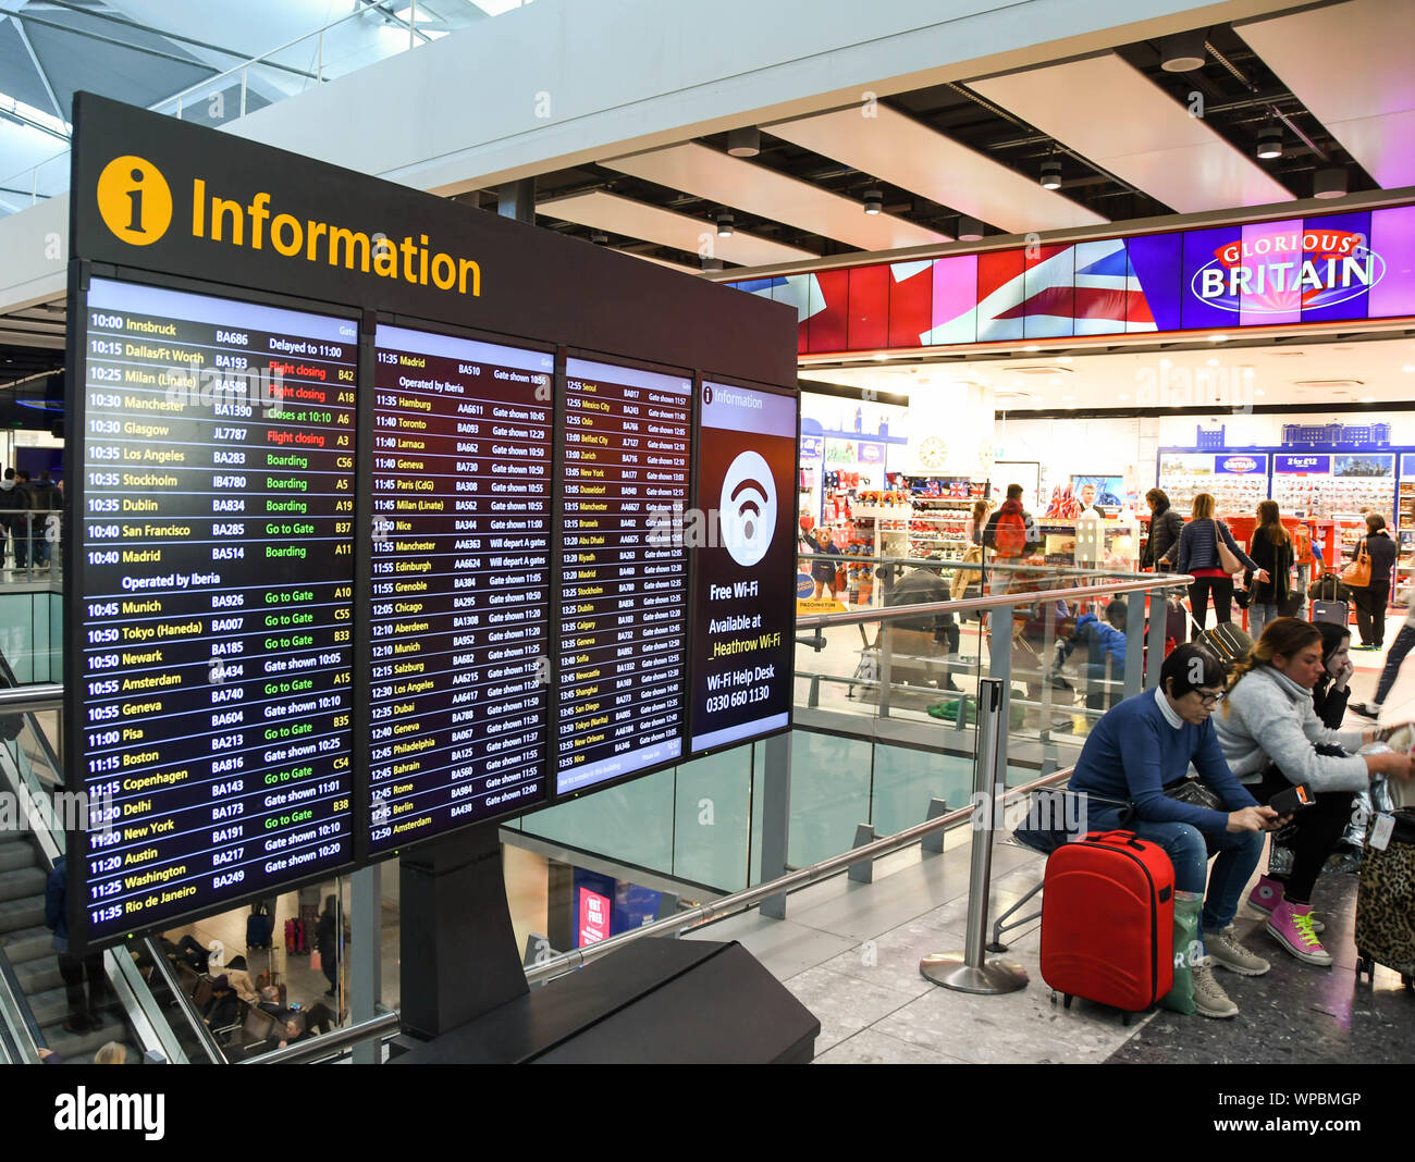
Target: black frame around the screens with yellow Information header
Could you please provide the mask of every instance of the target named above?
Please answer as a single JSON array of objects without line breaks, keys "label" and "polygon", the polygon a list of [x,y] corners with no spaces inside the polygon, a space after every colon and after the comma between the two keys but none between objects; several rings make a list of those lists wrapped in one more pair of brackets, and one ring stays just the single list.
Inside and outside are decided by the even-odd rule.
[{"label": "black frame around the screens with yellow Information header", "polygon": [[[91,277],[184,290],[258,305],[348,318],[357,325],[355,392],[358,393],[354,475],[354,591],[352,591],[352,751],[354,858],[338,869],[321,868],[306,876],[280,878],[252,885],[249,891],[224,898],[216,905],[134,926],[134,932],[168,929],[200,916],[238,908],[276,892],[327,879],[331,874],[365,867],[402,854],[422,843],[413,840],[399,848],[369,854],[369,732],[368,701],[371,686],[371,630],[359,604],[371,598],[372,561],[372,401],[375,370],[375,335],[379,322],[504,344],[531,351],[553,352],[553,430],[565,430],[566,360],[584,358],[635,370],[682,376],[692,385],[691,433],[693,448],[700,438],[699,392],[705,379],[737,382],[753,389],[770,389],[795,396],[795,310],[747,295],[705,280],[683,277],[627,254],[565,239],[553,232],[507,218],[488,215],[392,182],[369,178],[299,154],[276,150],[233,134],[185,124],[147,110],[133,109],[89,93],[75,96],[75,136],[69,205],[69,332],[68,366],[71,368],[69,431],[85,437],[86,376],[85,321],[86,293]],[[122,216],[115,218],[115,174],[123,188],[142,187],[149,209],[153,189],[168,196],[167,216],[153,222],[154,236],[123,236],[132,192],[117,189]],[[129,181],[132,174],[133,181]],[[105,192],[106,182],[106,192]],[[134,185],[136,182],[136,185]],[[183,198],[190,189],[190,199]],[[275,191],[267,192],[267,191]],[[209,198],[209,201],[208,201]],[[105,202],[106,199],[106,202]],[[218,205],[219,202],[219,205]],[[245,205],[243,205],[245,204]],[[157,199],[156,205],[161,205]],[[136,206],[136,204],[134,204]],[[258,211],[263,208],[263,219]],[[216,237],[216,219],[225,232]],[[282,219],[289,219],[282,222]],[[134,218],[136,221],[136,218]],[[303,225],[301,225],[303,222]],[[284,249],[276,243],[287,243]],[[359,249],[350,240],[342,252],[317,253],[323,237],[333,247],[333,235],[358,236],[368,243],[372,267],[378,267],[379,247],[398,253],[405,263],[403,277],[375,277],[355,269]],[[188,233],[184,236],[184,230]],[[263,235],[260,232],[265,232]],[[301,230],[304,233],[301,233]],[[351,233],[352,232],[352,233]],[[395,239],[403,235],[402,243]],[[306,249],[289,249],[291,237],[307,242]],[[263,237],[265,246],[260,245]],[[385,242],[378,239],[385,237]],[[419,242],[420,240],[420,242]],[[276,250],[279,249],[279,253]],[[417,256],[422,254],[419,259]],[[475,294],[450,294],[419,281],[417,262],[430,269],[436,281],[437,257],[473,256]],[[432,257],[429,257],[432,256]],[[327,262],[321,262],[327,257]],[[443,267],[451,269],[451,267]],[[464,267],[470,269],[470,267]],[[201,277],[192,277],[200,271]],[[386,271],[382,271],[386,274]],[[270,287],[279,287],[272,291]],[[723,336],[732,336],[724,342]],[[705,370],[710,369],[710,370]],[[76,407],[74,403],[76,401]],[[799,409],[798,409],[799,423]],[[559,649],[556,622],[560,609],[559,537],[563,519],[563,444],[552,447],[552,527],[549,608],[550,664],[549,708],[559,698]],[[689,458],[689,499],[693,496],[696,451]],[[81,462],[82,457],[79,457]],[[79,466],[82,476],[83,468]],[[71,474],[72,475],[72,474]],[[82,485],[82,481],[79,481]],[[67,560],[82,556],[82,486],[71,488],[65,498],[64,546]],[[692,619],[696,557],[688,553],[688,638],[682,679],[682,753],[668,762],[645,766],[559,796],[556,792],[556,731],[549,731],[546,745],[546,790],[531,810],[558,802],[579,799],[645,777],[668,766],[688,762],[692,729]],[[85,753],[82,745],[82,703],[85,690],[78,667],[82,660],[83,618],[82,565],[68,578],[65,589],[65,677],[68,724],[65,741],[74,761]],[[548,712],[548,725],[555,715]],[[790,729],[790,725],[785,727]],[[771,734],[775,734],[773,731]],[[761,735],[768,736],[767,734]],[[743,745],[743,739],[734,745]],[[467,823],[504,820],[525,814],[526,806],[494,813]],[[463,828],[449,828],[429,835],[427,841],[456,835]],[[69,932],[75,950],[86,941],[85,884],[81,876],[86,852],[82,834],[69,835],[71,892],[68,900]],[[102,947],[122,937],[105,937]]]}]

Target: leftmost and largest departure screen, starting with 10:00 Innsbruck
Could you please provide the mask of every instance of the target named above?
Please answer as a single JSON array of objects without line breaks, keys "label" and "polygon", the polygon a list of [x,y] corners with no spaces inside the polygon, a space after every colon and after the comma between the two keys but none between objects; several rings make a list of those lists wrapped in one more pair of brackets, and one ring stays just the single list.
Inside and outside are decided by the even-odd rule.
[{"label": "leftmost and largest departure screen, starting with 10:00 Innsbruck", "polygon": [[88,939],[354,858],[358,332],[95,278],[72,598]]}]

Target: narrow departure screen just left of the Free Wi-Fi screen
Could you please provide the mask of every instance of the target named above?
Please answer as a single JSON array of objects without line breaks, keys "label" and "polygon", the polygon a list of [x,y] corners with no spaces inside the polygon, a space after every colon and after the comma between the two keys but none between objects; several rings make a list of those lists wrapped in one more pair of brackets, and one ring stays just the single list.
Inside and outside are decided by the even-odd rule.
[{"label": "narrow departure screen just left of the Free Wi-Fi screen", "polygon": [[558,794],[683,753],[691,441],[691,379],[567,360]]}]

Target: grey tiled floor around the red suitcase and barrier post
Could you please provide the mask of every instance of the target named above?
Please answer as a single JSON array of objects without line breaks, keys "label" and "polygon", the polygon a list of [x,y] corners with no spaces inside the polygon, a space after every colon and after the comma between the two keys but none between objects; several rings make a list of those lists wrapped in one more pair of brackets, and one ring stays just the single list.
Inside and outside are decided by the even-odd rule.
[{"label": "grey tiled floor around the red suitcase and barrier post", "polygon": [[[1387,642],[1394,639],[1398,621],[1391,619]],[[1353,659],[1353,697],[1368,697],[1384,656],[1357,652]],[[843,876],[818,884],[791,896],[787,920],[749,913],[712,925],[700,936],[740,940],[819,1018],[816,1060],[822,1064],[1415,1057],[1415,994],[1407,994],[1399,977],[1381,968],[1374,990],[1356,982],[1351,875],[1324,875],[1317,884],[1317,908],[1327,922],[1323,939],[1337,957],[1330,970],[1286,956],[1261,932],[1258,913],[1245,909],[1240,934],[1274,967],[1262,978],[1223,973],[1221,981],[1241,1008],[1234,1021],[1159,1012],[1126,1028],[1114,1009],[1085,1001],[1071,1009],[1054,1005],[1039,967],[1039,922],[1007,934],[1006,957],[1030,977],[1024,990],[974,997],[940,988],[920,975],[918,961],[964,946],[966,841],[966,834],[955,833],[941,857],[910,848],[882,859],[870,885]],[[1041,871],[1040,857],[998,843],[992,915],[1036,884]]]}]

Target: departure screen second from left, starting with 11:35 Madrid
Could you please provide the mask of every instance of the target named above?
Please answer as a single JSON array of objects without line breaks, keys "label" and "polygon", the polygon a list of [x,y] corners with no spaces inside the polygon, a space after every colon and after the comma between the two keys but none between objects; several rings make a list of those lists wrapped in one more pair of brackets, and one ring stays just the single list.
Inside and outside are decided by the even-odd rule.
[{"label": "departure screen second from left, starting with 11:35 Madrid", "polygon": [[375,331],[371,851],[546,794],[553,358]]}]

